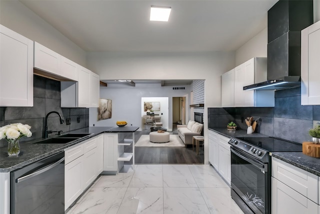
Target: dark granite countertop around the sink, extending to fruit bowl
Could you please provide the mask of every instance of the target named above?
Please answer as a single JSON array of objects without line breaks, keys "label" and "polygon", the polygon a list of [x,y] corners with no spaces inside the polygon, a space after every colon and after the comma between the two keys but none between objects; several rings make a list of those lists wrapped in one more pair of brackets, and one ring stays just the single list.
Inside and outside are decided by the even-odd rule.
[{"label": "dark granite countertop around the sink, extending to fruit bowl", "polygon": [[20,142],[20,153],[18,156],[7,156],[7,148],[0,148],[0,172],[9,172],[25,165],[33,163],[37,160],[50,156],[52,154],[63,151],[63,149],[75,145],[84,140],[90,139],[101,133],[118,133],[118,132],[135,132],[139,127],[87,127],[73,130],[67,133],[88,133],[90,135],[76,139],[66,144],[34,144],[34,142],[43,140],[44,138],[34,139],[32,141]]}]

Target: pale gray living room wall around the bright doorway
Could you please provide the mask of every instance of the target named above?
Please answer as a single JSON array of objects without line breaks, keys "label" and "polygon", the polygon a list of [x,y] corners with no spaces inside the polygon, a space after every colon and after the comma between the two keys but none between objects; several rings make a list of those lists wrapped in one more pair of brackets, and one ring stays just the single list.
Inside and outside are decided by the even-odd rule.
[{"label": "pale gray living room wall around the bright doorway", "polygon": [[[97,109],[89,109],[89,126],[115,126],[116,121],[127,121],[128,125],[143,128],[141,115],[141,98],[165,97],[168,103],[160,108],[161,121],[164,128],[172,130],[172,97],[190,96],[191,86],[185,85],[185,90],[172,90],[171,86],[161,87],[160,84],[135,84],[135,87],[123,84],[108,84],[100,87],[100,98],[112,100],[112,116],[110,119],[97,121]],[[143,103],[142,103],[143,105]],[[161,115],[161,113],[163,113]]]}]

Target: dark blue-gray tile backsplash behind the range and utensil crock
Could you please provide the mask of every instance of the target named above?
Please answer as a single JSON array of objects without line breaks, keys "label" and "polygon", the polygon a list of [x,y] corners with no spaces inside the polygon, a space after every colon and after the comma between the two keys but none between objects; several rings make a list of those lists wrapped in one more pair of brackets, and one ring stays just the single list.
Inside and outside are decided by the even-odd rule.
[{"label": "dark blue-gray tile backsplash behind the range and utensil crock", "polygon": [[[302,106],[300,88],[275,91],[274,107],[208,108],[208,127],[225,127],[231,120],[246,129],[242,118],[259,118],[256,132],[302,143],[310,141],[308,130],[320,120],[320,106]],[[222,116],[223,115],[223,116]]]}]

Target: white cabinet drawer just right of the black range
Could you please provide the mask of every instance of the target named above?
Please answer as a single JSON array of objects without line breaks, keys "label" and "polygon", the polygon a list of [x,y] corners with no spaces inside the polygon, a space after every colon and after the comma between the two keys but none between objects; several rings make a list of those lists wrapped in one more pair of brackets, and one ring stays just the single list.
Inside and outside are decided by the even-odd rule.
[{"label": "white cabinet drawer just right of the black range", "polygon": [[318,176],[272,157],[272,177],[318,203]]}]

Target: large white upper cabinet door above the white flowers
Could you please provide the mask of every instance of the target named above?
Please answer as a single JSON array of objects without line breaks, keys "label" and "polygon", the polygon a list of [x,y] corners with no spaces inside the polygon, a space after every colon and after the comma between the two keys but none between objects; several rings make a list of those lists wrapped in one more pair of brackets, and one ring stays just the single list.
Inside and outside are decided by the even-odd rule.
[{"label": "large white upper cabinet door above the white flowers", "polygon": [[2,25],[0,106],[33,106],[33,42]]}]

